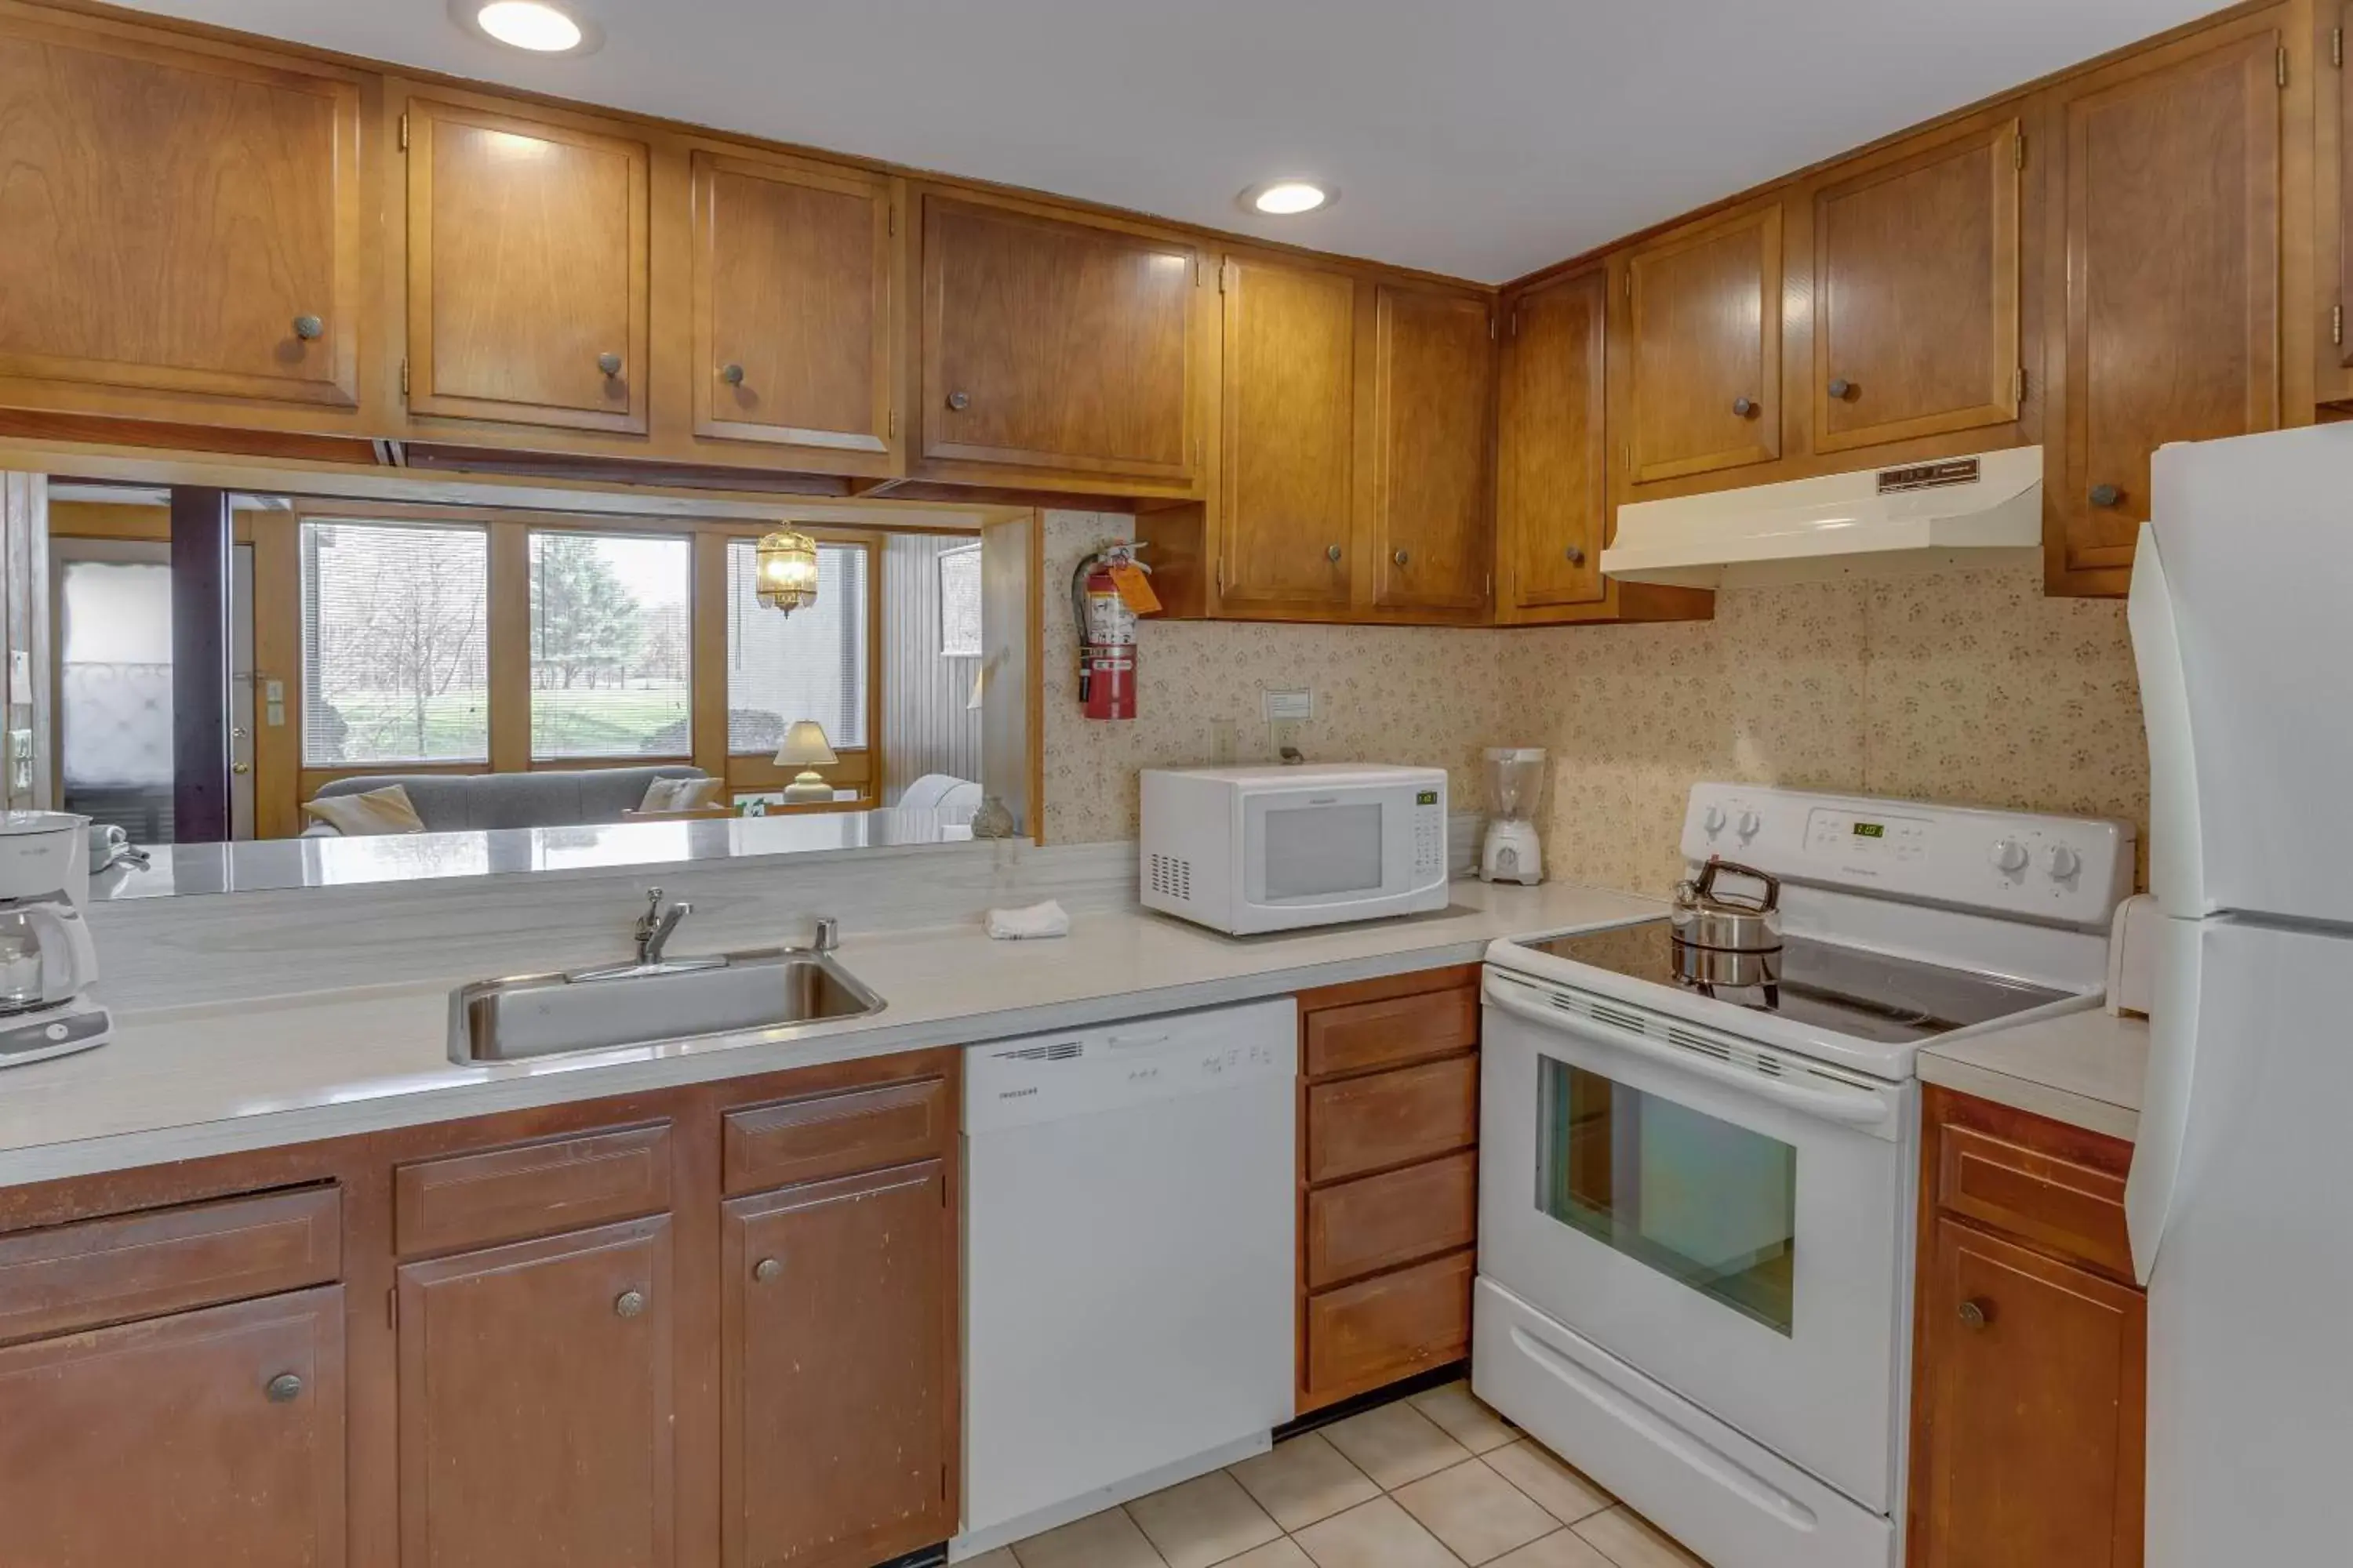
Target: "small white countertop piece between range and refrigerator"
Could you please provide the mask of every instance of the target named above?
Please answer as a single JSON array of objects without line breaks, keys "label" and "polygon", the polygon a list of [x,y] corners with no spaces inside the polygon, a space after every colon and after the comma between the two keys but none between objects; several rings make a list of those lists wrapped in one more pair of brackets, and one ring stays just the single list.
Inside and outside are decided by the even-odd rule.
[{"label": "small white countertop piece between range and refrigerator", "polygon": [[2148,1020],[2104,1009],[1920,1048],[1925,1084],[2125,1140],[2141,1126],[2146,1070]]}]

